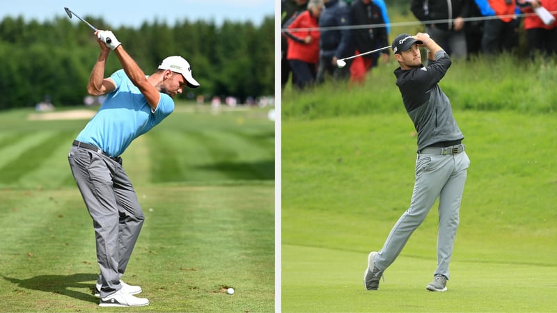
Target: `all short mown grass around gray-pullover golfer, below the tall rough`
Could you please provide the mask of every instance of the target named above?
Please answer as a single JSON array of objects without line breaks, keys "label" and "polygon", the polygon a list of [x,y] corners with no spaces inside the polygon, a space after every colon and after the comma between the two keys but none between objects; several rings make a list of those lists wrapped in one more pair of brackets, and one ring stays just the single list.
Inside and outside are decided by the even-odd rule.
[{"label": "all short mown grass around gray-pullover golfer, below the tall rough", "polygon": [[554,114],[456,110],[471,166],[449,291],[425,291],[437,204],[379,291],[363,290],[368,252],[382,247],[414,185],[416,135],[398,104],[394,113],[282,121],[283,312],[555,311]]}]

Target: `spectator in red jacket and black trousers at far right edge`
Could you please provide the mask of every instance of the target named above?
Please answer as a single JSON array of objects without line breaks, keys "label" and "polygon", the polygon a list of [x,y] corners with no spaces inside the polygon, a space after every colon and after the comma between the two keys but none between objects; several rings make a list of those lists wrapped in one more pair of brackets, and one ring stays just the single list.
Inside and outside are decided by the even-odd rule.
[{"label": "spectator in red jacket and black trousers at far right edge", "polygon": [[[524,13],[533,13],[535,8],[542,6],[540,0],[517,0],[519,9]],[[543,7],[549,12],[557,11],[557,0],[544,0]],[[557,14],[552,13],[557,19]],[[557,54],[557,22],[544,24],[538,15],[524,17],[524,29],[531,57],[537,53],[545,55]]]}]

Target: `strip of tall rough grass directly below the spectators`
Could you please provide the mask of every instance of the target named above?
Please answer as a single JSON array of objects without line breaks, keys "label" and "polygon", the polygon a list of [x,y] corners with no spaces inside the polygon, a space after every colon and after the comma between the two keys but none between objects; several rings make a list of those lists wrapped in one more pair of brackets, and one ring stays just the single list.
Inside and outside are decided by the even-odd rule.
[{"label": "strip of tall rough grass directly below the spectators", "polygon": [[[389,63],[368,72],[363,85],[329,80],[303,92],[288,85],[282,94],[283,120],[398,112],[400,92],[393,74],[398,66],[391,54]],[[557,111],[556,67],[552,58],[531,61],[507,54],[453,60],[439,86],[454,109],[553,113]]]}]

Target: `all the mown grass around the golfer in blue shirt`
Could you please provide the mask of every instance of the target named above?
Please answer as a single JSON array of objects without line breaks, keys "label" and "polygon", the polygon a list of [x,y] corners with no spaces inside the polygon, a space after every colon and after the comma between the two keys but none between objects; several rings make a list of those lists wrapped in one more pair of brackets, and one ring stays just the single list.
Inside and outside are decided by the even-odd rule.
[{"label": "all the mown grass around the golfer in blue shirt", "polygon": [[[92,295],[93,225],[67,159],[86,120],[29,121],[30,113],[0,113],[0,311],[111,311]],[[124,280],[151,304],[134,312],[272,312],[267,110],[178,106],[123,160],[146,214]]]}]

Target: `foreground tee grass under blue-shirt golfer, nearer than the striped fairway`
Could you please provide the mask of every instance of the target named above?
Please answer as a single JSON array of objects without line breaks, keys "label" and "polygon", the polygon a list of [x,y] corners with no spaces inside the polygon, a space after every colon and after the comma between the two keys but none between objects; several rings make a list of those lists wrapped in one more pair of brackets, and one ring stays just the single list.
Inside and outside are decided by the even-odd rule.
[{"label": "foreground tee grass under blue-shirt golfer, nearer than the striped fairway", "polygon": [[[123,280],[151,304],[134,311],[273,310],[272,184],[137,192],[146,220]],[[95,234],[77,188],[2,195],[0,311],[96,310]]]}]

